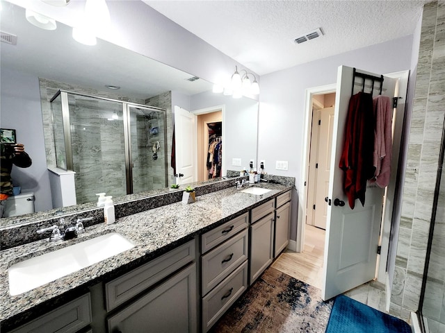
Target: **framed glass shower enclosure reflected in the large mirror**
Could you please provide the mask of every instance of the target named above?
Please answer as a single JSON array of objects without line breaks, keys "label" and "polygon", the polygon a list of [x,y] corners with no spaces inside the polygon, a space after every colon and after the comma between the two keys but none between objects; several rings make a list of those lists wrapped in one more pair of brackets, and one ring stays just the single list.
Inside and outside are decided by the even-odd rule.
[{"label": "framed glass shower enclosure reflected in the large mirror", "polygon": [[51,112],[56,165],[75,172],[77,204],[168,186],[165,110],[59,90]]}]

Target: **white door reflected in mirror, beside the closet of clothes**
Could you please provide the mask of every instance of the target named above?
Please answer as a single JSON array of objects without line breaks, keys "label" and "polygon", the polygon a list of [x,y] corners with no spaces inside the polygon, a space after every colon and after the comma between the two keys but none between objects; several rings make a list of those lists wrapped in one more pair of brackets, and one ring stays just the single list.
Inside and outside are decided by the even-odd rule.
[{"label": "white door reflected in mirror, beside the closet of clothes", "polygon": [[175,160],[181,184],[197,180],[196,133],[197,116],[175,105]]}]

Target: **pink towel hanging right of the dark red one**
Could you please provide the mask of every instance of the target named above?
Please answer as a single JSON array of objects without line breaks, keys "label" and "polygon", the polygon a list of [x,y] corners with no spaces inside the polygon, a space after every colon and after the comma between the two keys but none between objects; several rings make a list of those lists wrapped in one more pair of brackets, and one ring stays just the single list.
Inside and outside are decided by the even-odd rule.
[{"label": "pink towel hanging right of the dark red one", "polygon": [[377,96],[373,99],[375,117],[374,130],[374,180],[379,187],[389,184],[392,153],[392,103],[389,96]]}]

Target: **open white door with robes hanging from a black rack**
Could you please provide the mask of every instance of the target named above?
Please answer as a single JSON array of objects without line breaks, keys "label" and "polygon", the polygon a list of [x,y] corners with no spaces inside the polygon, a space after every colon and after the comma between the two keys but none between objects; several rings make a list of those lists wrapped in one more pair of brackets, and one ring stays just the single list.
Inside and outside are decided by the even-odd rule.
[{"label": "open white door with robes hanging from a black rack", "polygon": [[[358,71],[365,73],[364,71]],[[395,86],[395,79],[385,77],[382,94],[393,97]],[[339,168],[343,148],[343,133],[352,88],[353,69],[345,66],[339,67],[334,130],[332,133],[334,141],[332,142],[328,194],[331,205],[327,207],[322,283],[323,300],[328,300],[372,280],[375,278],[375,266],[377,264],[383,189],[368,185],[364,207],[357,200],[354,210],[351,210],[348,205],[348,198],[343,192],[343,171]],[[354,89],[354,94],[357,91],[358,87]],[[369,90],[365,89],[365,92],[369,92]],[[377,94],[375,93],[374,96]],[[343,206],[339,205],[339,201],[343,201]]]}]

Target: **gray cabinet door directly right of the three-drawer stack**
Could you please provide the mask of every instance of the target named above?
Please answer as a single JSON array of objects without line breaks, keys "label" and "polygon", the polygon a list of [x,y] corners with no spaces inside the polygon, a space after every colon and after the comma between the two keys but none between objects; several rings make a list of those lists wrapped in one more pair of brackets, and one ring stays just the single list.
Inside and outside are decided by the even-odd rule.
[{"label": "gray cabinet door directly right of the three-drawer stack", "polygon": [[250,284],[273,260],[273,213],[250,226]]}]

